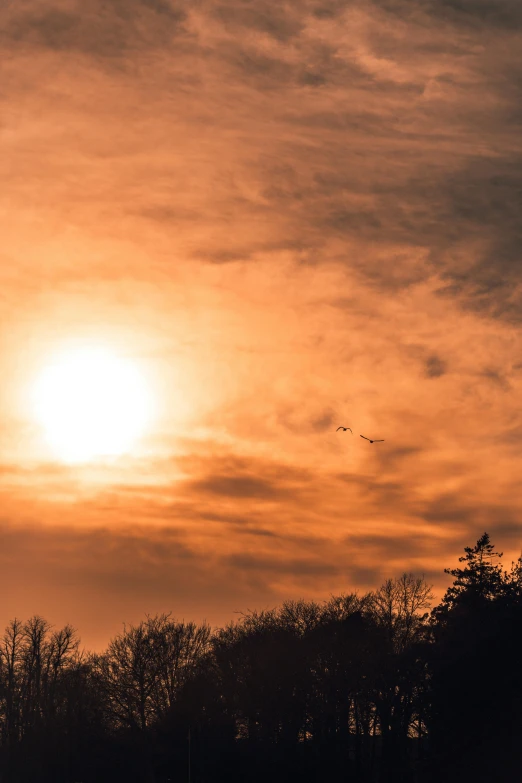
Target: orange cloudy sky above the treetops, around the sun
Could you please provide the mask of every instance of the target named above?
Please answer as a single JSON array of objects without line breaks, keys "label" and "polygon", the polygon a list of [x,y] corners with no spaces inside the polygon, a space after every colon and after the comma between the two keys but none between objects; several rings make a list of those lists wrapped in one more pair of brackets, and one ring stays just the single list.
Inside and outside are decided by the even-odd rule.
[{"label": "orange cloudy sky above the treetops, around the sun", "polygon": [[[0,0],[0,47],[0,626],[508,567],[519,0]],[[94,344],[153,415],[69,463],[31,401]]]}]

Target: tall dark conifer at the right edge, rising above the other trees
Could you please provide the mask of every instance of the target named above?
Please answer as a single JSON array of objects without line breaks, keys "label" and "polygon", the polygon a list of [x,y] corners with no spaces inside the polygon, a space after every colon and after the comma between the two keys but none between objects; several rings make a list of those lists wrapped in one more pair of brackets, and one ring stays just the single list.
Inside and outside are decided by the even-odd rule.
[{"label": "tall dark conifer at the right edge, rising above the other trees", "polygon": [[464,551],[465,566],[446,569],[454,583],[432,617],[430,769],[434,780],[508,781],[522,762],[513,745],[522,729],[513,711],[522,694],[517,573],[495,562],[502,555],[487,533]]}]

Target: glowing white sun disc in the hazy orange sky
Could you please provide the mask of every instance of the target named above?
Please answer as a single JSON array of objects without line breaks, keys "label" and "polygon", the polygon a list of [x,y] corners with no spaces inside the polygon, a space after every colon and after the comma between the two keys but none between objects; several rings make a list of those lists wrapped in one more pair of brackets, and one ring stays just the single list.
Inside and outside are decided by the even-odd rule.
[{"label": "glowing white sun disc in the hazy orange sky", "polygon": [[105,348],[56,355],[33,391],[34,413],[47,443],[65,462],[128,453],[152,418],[153,400],[143,373]]}]

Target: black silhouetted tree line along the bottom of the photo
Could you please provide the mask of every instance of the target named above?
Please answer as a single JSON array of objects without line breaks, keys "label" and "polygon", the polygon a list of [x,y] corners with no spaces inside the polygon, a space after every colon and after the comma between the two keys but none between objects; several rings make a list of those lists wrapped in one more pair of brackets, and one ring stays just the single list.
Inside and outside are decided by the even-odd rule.
[{"label": "black silhouetted tree line along the bottom of the photo", "polygon": [[224,628],[147,616],[99,654],[41,617],[0,644],[1,783],[517,779],[522,558],[487,533],[438,606],[403,574]]}]

